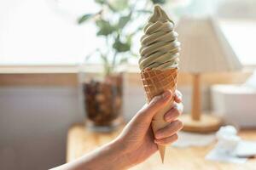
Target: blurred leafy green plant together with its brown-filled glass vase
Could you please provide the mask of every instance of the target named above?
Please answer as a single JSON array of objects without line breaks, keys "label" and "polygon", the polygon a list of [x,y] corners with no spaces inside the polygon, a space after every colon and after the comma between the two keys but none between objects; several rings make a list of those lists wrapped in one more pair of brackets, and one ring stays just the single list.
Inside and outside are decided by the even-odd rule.
[{"label": "blurred leafy green plant together with its brown-filled glass vase", "polygon": [[[138,4],[138,2],[140,2]],[[119,65],[125,64],[131,56],[132,38],[141,31],[143,25],[137,23],[140,16],[150,13],[154,3],[166,3],[165,0],[95,0],[100,10],[95,14],[84,14],[79,24],[92,21],[97,27],[97,37],[106,42],[103,48],[96,48],[85,61],[92,56],[102,61],[103,71],[93,77],[88,74],[82,82],[84,94],[84,111],[87,126],[97,131],[109,131],[117,127],[122,112],[123,78]],[[144,16],[145,18],[145,16]],[[128,28],[128,29],[127,29]]]}]

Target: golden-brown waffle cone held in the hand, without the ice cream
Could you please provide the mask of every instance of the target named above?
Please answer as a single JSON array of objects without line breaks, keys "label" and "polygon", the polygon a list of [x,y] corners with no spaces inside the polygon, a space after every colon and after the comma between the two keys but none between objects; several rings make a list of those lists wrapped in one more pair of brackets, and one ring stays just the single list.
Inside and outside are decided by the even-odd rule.
[{"label": "golden-brown waffle cone held in the hand, without the ice cream", "polygon": [[[174,94],[177,87],[177,73],[178,69],[167,69],[165,71],[145,69],[141,72],[143,80],[143,88],[147,94],[148,103],[156,95],[162,94],[166,90],[171,90]],[[155,133],[160,128],[166,127],[168,122],[164,120],[166,111],[170,110],[173,104],[174,98],[172,97],[171,105],[166,105],[164,109],[155,114],[152,120],[152,129]],[[166,146],[158,144],[160,156],[162,162],[164,162]]]}]

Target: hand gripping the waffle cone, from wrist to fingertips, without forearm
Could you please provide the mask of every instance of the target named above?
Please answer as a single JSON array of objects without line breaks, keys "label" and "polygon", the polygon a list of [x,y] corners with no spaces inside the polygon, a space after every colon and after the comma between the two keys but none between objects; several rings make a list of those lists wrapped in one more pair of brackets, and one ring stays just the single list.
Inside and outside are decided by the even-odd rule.
[{"label": "hand gripping the waffle cone, from wrist to fingertips, without forearm", "polygon": [[177,120],[181,114],[177,109],[177,103],[182,101],[178,91],[175,93],[172,109],[167,111],[164,117],[170,124],[157,131],[155,135],[151,128],[153,116],[169,105],[171,99],[171,91],[154,97],[148,105],[144,105],[143,109],[137,112],[119,135],[115,143],[121,145],[126,165],[132,166],[146,160],[158,150],[157,144],[172,144],[177,140],[177,131],[183,127],[183,123]]}]

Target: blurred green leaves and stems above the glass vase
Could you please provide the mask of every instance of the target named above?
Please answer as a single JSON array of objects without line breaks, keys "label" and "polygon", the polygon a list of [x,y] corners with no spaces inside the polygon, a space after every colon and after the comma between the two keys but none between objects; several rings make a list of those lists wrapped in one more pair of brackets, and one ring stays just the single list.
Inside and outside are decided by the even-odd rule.
[{"label": "blurred green leaves and stems above the glass vase", "polygon": [[[95,14],[84,14],[78,19],[79,24],[93,21],[97,27],[96,35],[106,39],[106,47],[109,49],[96,49],[105,68],[105,74],[111,74],[119,64],[124,64],[131,56],[137,56],[131,51],[131,40],[143,26],[132,26],[133,32],[125,31],[138,17],[151,14],[155,3],[164,4],[166,0],[141,0],[144,8],[137,8],[137,1],[129,0],[95,0],[101,10]],[[86,59],[90,58],[87,56]]]}]

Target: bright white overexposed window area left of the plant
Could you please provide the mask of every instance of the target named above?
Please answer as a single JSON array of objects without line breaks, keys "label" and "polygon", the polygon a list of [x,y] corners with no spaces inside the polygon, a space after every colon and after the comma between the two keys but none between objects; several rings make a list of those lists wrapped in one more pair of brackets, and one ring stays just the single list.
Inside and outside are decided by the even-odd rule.
[{"label": "bright white overexposed window area left of the plant", "polygon": [[76,23],[94,3],[53,2],[0,0],[0,64],[74,64],[100,45],[94,26]]}]

